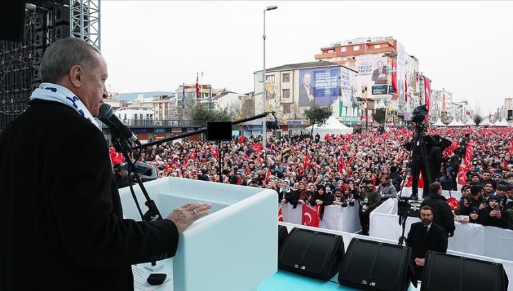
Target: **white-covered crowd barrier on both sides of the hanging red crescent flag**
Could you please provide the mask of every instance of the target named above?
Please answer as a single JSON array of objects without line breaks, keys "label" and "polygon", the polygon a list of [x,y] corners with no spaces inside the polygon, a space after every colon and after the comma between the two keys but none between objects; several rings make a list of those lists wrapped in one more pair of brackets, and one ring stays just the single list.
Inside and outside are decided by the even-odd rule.
[{"label": "white-covered crowd barrier on both sides of the hanging red crescent flag", "polygon": [[[301,224],[302,221],[302,205],[298,204],[295,209],[290,203],[281,206],[281,213],[284,215],[284,222]],[[360,218],[358,217],[358,201],[354,202],[354,206],[340,207],[335,205],[324,206],[324,215],[319,222],[322,229],[333,229],[337,231],[345,231],[356,233],[361,230]]]}]

